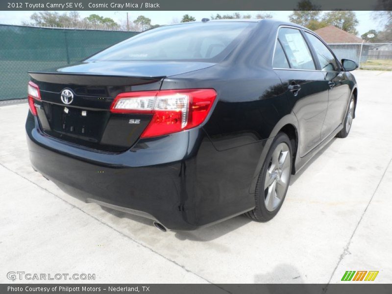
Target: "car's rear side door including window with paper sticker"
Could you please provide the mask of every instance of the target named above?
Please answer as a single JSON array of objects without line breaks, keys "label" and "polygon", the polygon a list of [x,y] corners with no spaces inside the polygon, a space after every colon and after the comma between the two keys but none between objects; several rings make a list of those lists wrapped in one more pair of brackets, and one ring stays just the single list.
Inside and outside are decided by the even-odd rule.
[{"label": "car's rear side door including window with paper sticker", "polygon": [[303,35],[294,27],[279,27],[273,69],[287,87],[287,98],[298,120],[299,155],[305,156],[321,141],[328,106],[328,85],[317,70]]}]

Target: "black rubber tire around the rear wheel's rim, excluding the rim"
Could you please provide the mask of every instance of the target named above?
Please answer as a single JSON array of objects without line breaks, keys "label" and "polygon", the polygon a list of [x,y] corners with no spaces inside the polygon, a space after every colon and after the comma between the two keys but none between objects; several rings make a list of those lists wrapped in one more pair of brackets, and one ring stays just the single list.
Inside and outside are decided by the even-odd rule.
[{"label": "black rubber tire around the rear wheel's rim, excluding the rim", "polygon": [[[290,162],[289,166],[289,173],[288,173],[288,178],[287,178],[287,186],[284,190],[284,195],[282,199],[280,200],[280,203],[276,208],[273,209],[273,211],[270,211],[266,207],[265,199],[266,199],[266,189],[265,189],[265,182],[266,182],[266,174],[267,171],[271,168],[271,161],[272,161],[272,154],[277,149],[278,146],[281,143],[286,144],[289,150],[289,156],[288,160]],[[291,177],[291,171],[292,171],[292,164],[293,164],[293,148],[292,144],[290,142],[289,137],[285,133],[278,133],[275,139],[272,142],[272,145],[270,147],[270,150],[267,153],[266,161],[263,164],[263,167],[261,169],[261,172],[259,174],[259,178],[257,180],[256,184],[256,190],[255,190],[255,208],[251,211],[248,211],[245,213],[247,217],[252,219],[253,221],[260,221],[260,222],[265,222],[265,221],[270,221],[280,210],[283,201],[286,197],[287,189],[289,188],[289,183],[290,183],[290,177]],[[286,169],[286,168],[285,168]]]}]

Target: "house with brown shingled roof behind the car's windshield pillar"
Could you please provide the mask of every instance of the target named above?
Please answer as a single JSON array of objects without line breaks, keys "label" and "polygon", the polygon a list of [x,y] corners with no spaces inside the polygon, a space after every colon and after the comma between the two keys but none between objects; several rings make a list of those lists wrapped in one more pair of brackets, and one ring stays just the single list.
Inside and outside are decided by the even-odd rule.
[{"label": "house with brown shingled roof behind the car's windshield pillar", "polygon": [[368,42],[360,37],[333,25],[319,28],[315,30],[315,33],[329,45],[339,60],[346,58],[359,63],[360,56],[361,62],[366,62],[368,60],[368,51],[370,47],[363,46],[364,44],[368,44]]}]

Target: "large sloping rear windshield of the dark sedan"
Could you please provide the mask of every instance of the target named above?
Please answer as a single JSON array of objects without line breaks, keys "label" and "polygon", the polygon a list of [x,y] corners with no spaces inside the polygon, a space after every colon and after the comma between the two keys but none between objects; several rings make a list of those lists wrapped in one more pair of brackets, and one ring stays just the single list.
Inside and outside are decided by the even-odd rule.
[{"label": "large sloping rear windshield of the dark sedan", "polygon": [[87,61],[218,61],[255,26],[250,22],[162,26],[105,49]]}]

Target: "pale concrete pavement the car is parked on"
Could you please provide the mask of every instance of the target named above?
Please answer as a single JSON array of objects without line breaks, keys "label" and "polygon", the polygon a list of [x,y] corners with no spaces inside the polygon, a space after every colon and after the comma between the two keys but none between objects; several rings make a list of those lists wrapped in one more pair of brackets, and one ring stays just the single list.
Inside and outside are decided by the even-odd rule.
[{"label": "pale concrete pavement the car is parked on", "polygon": [[239,216],[193,232],[162,233],[65,194],[29,164],[28,106],[0,107],[0,282],[16,270],[95,273],[98,283],[323,284],[378,270],[374,282],[391,282],[392,72],[354,74],[349,136],[292,177],[272,221]]}]

